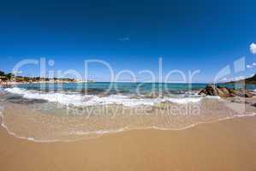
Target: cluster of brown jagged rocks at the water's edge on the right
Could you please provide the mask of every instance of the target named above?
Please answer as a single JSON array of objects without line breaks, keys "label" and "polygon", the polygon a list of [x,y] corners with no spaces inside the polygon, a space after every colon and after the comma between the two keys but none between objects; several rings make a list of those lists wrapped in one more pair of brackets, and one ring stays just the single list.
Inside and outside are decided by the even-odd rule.
[{"label": "cluster of brown jagged rocks at the water's edge on the right", "polygon": [[219,85],[206,85],[205,89],[199,91],[199,95],[203,96],[219,96],[219,97],[253,97],[253,92],[247,90],[235,90],[229,87],[221,87]]}]

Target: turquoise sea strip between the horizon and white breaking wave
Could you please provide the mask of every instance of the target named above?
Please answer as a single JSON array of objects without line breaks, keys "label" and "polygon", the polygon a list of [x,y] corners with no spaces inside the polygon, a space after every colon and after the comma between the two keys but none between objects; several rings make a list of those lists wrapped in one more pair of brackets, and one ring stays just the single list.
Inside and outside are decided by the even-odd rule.
[{"label": "turquoise sea strip between the horizon and white breaking wave", "polygon": [[[162,91],[164,93],[182,93],[185,91],[199,91],[205,88],[205,83],[110,83],[110,82],[95,82],[95,83],[47,83],[47,84],[22,84],[15,85],[16,87],[35,90],[35,91],[74,91],[74,92],[87,92],[89,94],[100,94],[107,92],[108,94],[128,94],[137,93],[141,94],[150,93],[152,91]],[[224,85],[230,88],[241,88],[241,85]],[[256,85],[247,85],[248,90],[255,90]]]}]

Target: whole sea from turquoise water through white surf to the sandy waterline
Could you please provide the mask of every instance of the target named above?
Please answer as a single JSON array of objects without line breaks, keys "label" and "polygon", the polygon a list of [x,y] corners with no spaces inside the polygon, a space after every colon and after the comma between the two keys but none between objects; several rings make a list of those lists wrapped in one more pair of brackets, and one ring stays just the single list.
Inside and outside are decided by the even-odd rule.
[{"label": "whole sea from turquoise water through white surf to the sandy waterline", "polygon": [[[69,141],[137,128],[180,130],[199,123],[256,113],[256,108],[251,105],[254,98],[249,103],[231,103],[230,99],[198,96],[203,84],[192,85],[190,90],[188,85],[165,85],[170,89],[162,86],[160,92],[148,88],[153,85],[147,84],[142,88],[143,93],[134,91],[137,83],[118,84],[118,90],[122,91],[114,88],[104,93],[108,89],[106,85],[72,83],[44,85],[47,88],[39,84],[6,87],[0,91],[2,126],[22,139]],[[86,93],[80,91],[85,87]]]}]

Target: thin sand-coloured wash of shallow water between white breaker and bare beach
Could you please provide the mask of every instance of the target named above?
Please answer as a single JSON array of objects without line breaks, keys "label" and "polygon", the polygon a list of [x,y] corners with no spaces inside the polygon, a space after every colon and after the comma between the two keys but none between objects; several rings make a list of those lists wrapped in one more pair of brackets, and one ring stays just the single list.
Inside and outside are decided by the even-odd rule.
[{"label": "thin sand-coloured wash of shallow water between white breaker and bare beach", "polygon": [[[40,97],[40,99],[41,98],[42,97]],[[251,100],[251,103],[255,102],[255,98],[253,97],[247,99],[247,101],[248,100]],[[152,109],[150,109],[148,113],[146,113],[146,115],[141,116],[129,115],[130,112],[134,112],[134,110],[133,108],[130,109],[127,107],[127,110],[124,110],[126,112],[120,115],[120,117],[119,115],[116,116],[116,113],[114,113],[116,116],[116,120],[111,120],[112,114],[110,112],[113,111],[112,109],[115,109],[114,111],[121,114],[122,110],[119,108],[115,108],[115,106],[110,110],[106,110],[106,114],[109,114],[106,115],[106,117],[92,117],[90,118],[90,120],[86,120],[86,117],[82,117],[82,115],[81,117],[77,118],[71,118],[69,116],[55,117],[55,114],[60,112],[63,113],[63,110],[65,109],[53,110],[55,108],[53,108],[53,106],[51,105],[51,111],[47,110],[47,114],[52,114],[52,116],[45,115],[45,113],[40,113],[40,110],[33,110],[33,105],[29,107],[25,105],[32,103],[33,101],[21,101],[22,103],[19,102],[20,100],[18,98],[18,101],[10,101],[10,103],[4,104],[4,122],[2,123],[2,126],[5,127],[8,132],[15,137],[37,142],[61,142],[69,141],[70,139],[71,141],[77,139],[91,139],[94,137],[102,136],[104,134],[112,134],[116,132],[124,133],[131,130],[147,130],[152,128],[157,130],[170,131],[184,130],[188,127],[198,126],[201,123],[211,123],[220,120],[229,120],[239,116],[255,115],[255,109],[249,102],[247,102],[247,114],[244,114],[240,113],[240,110],[235,111],[238,103],[223,103],[223,101],[219,101],[217,99],[211,100],[211,98],[202,99],[202,102],[200,102],[199,105],[195,105],[197,103],[193,103],[195,107],[198,107],[196,109],[199,109],[199,111],[201,112],[200,114],[202,115],[191,115],[191,117],[186,117],[186,115],[183,116],[183,113],[181,114],[181,116],[169,115],[168,109],[172,109],[171,107],[176,107],[178,104],[167,103],[168,105],[165,106],[166,108],[156,105],[152,107]],[[40,103],[38,104],[39,106],[41,106]],[[46,105],[47,106],[43,105],[44,108],[49,106],[48,104]],[[193,107],[193,105],[191,106]],[[180,108],[183,109],[183,107],[188,106],[180,104]],[[193,109],[192,107],[188,109]],[[86,111],[90,111],[91,109],[93,108],[88,107],[88,110]],[[102,110],[97,109],[98,108],[96,108],[96,111],[98,111],[98,113],[96,113],[95,116],[98,116],[98,114],[101,115]],[[164,113],[160,113],[163,114],[163,117],[162,115],[159,115],[159,117],[158,115],[156,115],[159,113],[157,109],[162,109],[164,111]],[[162,110],[160,112],[163,112]],[[225,111],[225,114],[223,114],[223,111]],[[89,114],[91,115],[91,113]],[[85,115],[88,114],[86,113]],[[51,127],[45,127],[45,122],[47,123],[47,126]],[[91,123],[93,123],[93,125]],[[24,127],[25,125],[26,127]]]}]

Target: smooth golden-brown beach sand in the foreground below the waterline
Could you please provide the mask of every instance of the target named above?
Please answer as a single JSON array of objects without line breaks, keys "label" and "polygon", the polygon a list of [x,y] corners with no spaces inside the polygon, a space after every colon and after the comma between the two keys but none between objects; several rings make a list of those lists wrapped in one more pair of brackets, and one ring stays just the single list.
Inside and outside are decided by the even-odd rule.
[{"label": "smooth golden-brown beach sand in the foreground below the waterline", "polygon": [[256,170],[256,117],[182,131],[133,130],[70,143],[16,139],[0,128],[0,169]]}]

